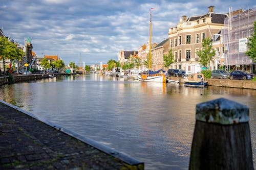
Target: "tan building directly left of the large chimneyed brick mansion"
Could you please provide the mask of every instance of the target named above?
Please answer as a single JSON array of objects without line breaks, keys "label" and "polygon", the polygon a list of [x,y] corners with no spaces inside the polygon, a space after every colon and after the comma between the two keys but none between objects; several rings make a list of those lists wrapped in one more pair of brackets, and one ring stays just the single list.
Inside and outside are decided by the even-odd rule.
[{"label": "tan building directly left of the large chimneyed brick mansion", "polygon": [[169,40],[164,39],[152,49],[152,70],[164,69],[163,56],[168,55]]}]

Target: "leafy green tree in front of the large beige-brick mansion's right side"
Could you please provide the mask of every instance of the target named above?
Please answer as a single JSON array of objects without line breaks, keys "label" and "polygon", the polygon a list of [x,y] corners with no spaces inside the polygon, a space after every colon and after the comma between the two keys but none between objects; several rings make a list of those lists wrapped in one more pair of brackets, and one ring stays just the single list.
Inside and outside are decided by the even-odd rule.
[{"label": "leafy green tree in front of the large beige-brick mansion's right side", "polygon": [[203,50],[197,52],[199,62],[206,67],[210,64],[212,57],[215,55],[215,50],[212,48],[211,38],[205,38],[202,43]]}]

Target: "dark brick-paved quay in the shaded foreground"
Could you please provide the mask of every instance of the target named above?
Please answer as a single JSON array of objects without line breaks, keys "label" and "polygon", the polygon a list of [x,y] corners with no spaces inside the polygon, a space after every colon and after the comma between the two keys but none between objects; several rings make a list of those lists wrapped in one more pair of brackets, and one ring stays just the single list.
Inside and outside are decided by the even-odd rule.
[{"label": "dark brick-paved quay in the shaded foreground", "polygon": [[0,153],[0,169],[144,169],[1,102]]}]

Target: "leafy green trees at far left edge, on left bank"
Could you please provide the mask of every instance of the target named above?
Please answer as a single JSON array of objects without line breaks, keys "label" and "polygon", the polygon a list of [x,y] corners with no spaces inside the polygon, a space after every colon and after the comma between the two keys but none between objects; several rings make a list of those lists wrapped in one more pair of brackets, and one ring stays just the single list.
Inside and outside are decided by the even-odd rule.
[{"label": "leafy green trees at far left edge, on left bank", "polygon": [[[8,41],[6,37],[0,36],[0,57],[4,63],[4,72],[6,70],[5,60],[10,59],[11,61],[21,61],[25,53],[23,50],[18,49],[16,44]],[[0,69],[1,70],[1,69]]]}]

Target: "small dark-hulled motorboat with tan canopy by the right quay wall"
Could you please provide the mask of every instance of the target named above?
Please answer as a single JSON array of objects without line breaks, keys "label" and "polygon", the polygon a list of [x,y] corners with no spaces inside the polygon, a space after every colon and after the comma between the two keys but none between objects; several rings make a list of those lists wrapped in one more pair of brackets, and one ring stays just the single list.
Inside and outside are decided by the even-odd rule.
[{"label": "small dark-hulled motorboat with tan canopy by the right quay wall", "polygon": [[184,79],[184,85],[187,87],[205,87],[208,86],[208,82],[204,81],[203,74],[190,74]]}]

